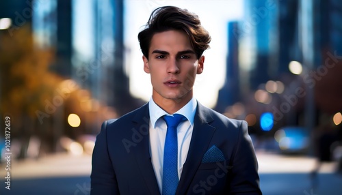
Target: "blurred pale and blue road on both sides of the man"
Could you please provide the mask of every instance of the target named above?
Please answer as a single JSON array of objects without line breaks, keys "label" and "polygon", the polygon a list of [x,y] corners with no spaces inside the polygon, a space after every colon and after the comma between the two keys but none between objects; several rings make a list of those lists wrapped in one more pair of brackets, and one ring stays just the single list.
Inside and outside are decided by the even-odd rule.
[{"label": "blurred pale and blue road on both sides of the man", "polygon": [[[261,190],[265,195],[342,193],[342,175],[334,172],[336,164],[324,164],[313,186],[310,172],[315,164],[311,157],[293,157],[257,152]],[[11,164],[11,190],[5,189],[5,166],[0,166],[0,194],[63,195],[90,194],[90,155],[58,153],[39,160]]]}]

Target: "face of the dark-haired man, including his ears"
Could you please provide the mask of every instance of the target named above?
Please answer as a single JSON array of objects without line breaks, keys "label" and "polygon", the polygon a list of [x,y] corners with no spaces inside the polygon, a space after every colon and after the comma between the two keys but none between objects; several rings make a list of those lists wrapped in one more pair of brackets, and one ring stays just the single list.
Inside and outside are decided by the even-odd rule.
[{"label": "face of the dark-haired man, including his ears", "polygon": [[196,58],[189,37],[182,31],[164,31],[153,35],[148,59],[143,56],[144,71],[150,74],[153,100],[188,102],[192,99],[196,74],[203,71],[205,57]]}]

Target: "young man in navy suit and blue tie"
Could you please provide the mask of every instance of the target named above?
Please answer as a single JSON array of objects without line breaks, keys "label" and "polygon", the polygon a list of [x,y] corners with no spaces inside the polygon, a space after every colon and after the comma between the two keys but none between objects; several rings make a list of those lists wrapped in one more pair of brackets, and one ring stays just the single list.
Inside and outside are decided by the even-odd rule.
[{"label": "young man in navy suit and blue tie", "polygon": [[228,119],[193,97],[211,40],[198,16],[159,7],[138,39],[152,97],[103,123],[91,194],[261,194],[246,121]]}]

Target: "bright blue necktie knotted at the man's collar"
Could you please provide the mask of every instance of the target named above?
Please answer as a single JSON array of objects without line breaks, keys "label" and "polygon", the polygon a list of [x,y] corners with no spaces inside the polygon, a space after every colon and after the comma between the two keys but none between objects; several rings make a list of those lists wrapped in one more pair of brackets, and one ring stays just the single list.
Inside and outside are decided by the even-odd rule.
[{"label": "bright blue necktie knotted at the man's collar", "polygon": [[163,159],[163,195],[174,195],[178,186],[178,142],[177,126],[186,118],[183,115],[163,116],[168,130],[166,132]]}]

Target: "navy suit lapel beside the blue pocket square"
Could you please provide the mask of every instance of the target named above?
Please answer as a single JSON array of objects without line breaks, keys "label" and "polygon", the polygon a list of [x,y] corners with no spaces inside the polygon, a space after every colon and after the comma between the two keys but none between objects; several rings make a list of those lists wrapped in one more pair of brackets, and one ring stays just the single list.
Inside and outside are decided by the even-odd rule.
[{"label": "navy suit lapel beside the blue pocket square", "polygon": [[202,162],[202,157],[209,147],[215,127],[209,125],[213,118],[208,112],[209,109],[201,104],[197,104],[196,115],[194,118],[194,130],[192,132],[192,140],[190,142],[187,160],[183,165],[183,172],[176,194],[186,194],[187,188],[196,174],[198,166]]}]

